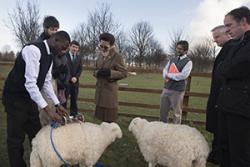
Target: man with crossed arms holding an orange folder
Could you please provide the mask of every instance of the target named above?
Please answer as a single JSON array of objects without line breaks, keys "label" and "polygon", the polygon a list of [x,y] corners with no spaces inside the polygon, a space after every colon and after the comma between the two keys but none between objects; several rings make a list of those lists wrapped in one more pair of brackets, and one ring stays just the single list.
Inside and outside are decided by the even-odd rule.
[{"label": "man with crossed arms holding an orange folder", "polygon": [[168,113],[173,110],[173,123],[180,124],[182,103],[186,89],[186,79],[192,70],[192,61],[187,57],[188,42],[176,45],[177,57],[171,59],[163,69],[164,89],[160,100],[160,121],[168,121]]}]

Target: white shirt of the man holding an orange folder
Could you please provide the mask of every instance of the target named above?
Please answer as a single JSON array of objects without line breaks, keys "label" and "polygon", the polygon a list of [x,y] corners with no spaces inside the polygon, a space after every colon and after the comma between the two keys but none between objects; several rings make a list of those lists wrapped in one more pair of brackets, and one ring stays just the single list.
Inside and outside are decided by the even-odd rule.
[{"label": "white shirt of the man holding an orange folder", "polygon": [[[180,57],[180,59],[186,58],[187,55],[183,55]],[[187,62],[187,64],[183,67],[182,71],[179,73],[168,73],[168,68],[169,68],[169,63],[170,61],[166,64],[165,68],[163,69],[162,77],[165,80],[166,77],[169,79],[175,80],[175,81],[181,81],[187,79],[189,76],[192,68],[193,68],[193,63],[192,61]]]}]

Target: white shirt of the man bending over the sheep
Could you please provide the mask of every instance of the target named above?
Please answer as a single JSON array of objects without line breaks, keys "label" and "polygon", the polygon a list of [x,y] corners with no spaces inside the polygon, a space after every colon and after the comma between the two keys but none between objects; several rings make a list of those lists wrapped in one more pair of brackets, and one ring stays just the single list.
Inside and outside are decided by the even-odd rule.
[{"label": "white shirt of the man bending over the sheep", "polygon": [[[47,41],[44,41],[47,53],[50,54],[50,49],[48,46]],[[44,108],[48,104],[44,100],[38,86],[37,86],[37,78],[39,74],[40,68],[40,58],[41,52],[38,47],[35,45],[28,45],[25,46],[22,50],[22,57],[25,61],[25,88],[28,91],[31,99],[38,105],[39,108]],[[49,68],[48,73],[46,74],[45,82],[42,87],[42,91],[44,92],[45,96],[53,101],[54,104],[59,104],[59,100],[53,90],[51,79],[52,79],[52,63]]]}]

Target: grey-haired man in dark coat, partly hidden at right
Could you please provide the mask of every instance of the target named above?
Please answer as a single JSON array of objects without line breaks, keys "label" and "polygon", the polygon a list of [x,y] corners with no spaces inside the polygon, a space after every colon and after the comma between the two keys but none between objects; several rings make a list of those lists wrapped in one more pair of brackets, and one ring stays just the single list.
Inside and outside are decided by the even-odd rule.
[{"label": "grey-haired man in dark coat, partly hidden at right", "polygon": [[210,94],[208,97],[207,110],[206,110],[206,130],[213,133],[212,149],[208,156],[207,161],[214,164],[219,164],[220,153],[218,146],[218,109],[217,109],[217,96],[219,94],[220,87],[223,83],[223,78],[216,73],[216,68],[218,64],[223,63],[223,60],[227,56],[228,50],[231,48],[232,40],[229,34],[226,32],[226,27],[224,25],[216,26],[212,29],[212,35],[214,42],[222,47],[219,54],[217,55],[211,79]]}]

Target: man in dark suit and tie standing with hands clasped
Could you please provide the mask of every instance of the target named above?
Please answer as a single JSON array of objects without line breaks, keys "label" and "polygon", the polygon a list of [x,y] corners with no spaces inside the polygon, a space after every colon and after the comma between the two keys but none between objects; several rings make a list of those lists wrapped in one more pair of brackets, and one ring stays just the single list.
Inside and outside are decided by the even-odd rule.
[{"label": "man in dark suit and tie standing with hands clasped", "polygon": [[79,78],[82,73],[82,57],[78,54],[79,48],[80,44],[73,40],[70,44],[69,52],[66,53],[70,77],[65,93],[66,102],[63,106],[67,106],[67,99],[70,95],[70,115],[74,117],[78,114],[77,97],[79,91]]}]

